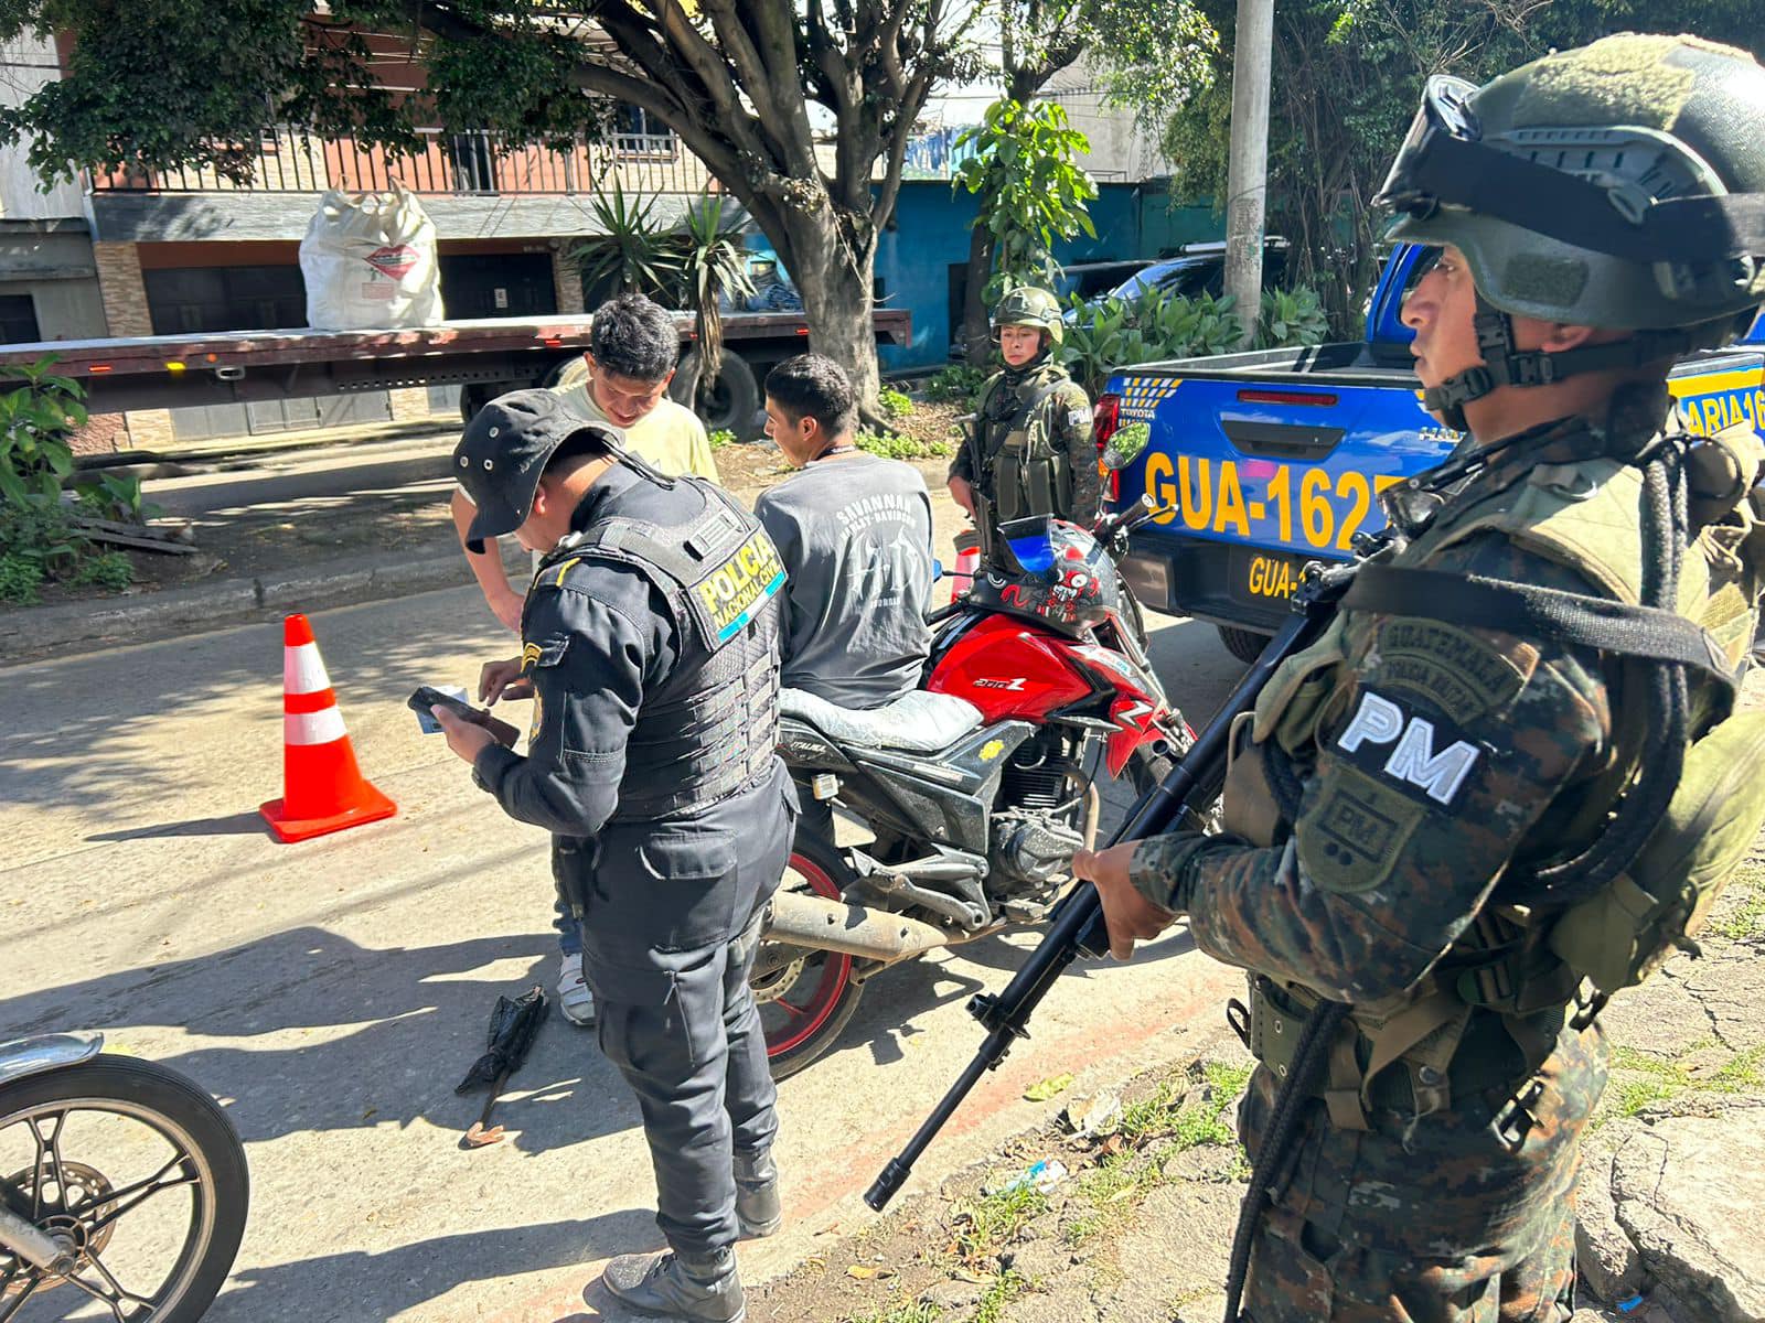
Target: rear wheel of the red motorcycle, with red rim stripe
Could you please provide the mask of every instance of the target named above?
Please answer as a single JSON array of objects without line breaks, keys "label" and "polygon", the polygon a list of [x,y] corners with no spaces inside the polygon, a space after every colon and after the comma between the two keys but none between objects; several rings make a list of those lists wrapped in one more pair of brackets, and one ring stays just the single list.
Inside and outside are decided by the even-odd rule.
[{"label": "rear wheel of the red motorcycle, with red rim stripe", "polygon": [[[784,887],[838,900],[858,880],[833,845],[810,831],[791,841]],[[787,1080],[840,1037],[863,988],[852,981],[852,958],[838,951],[803,951],[762,944],[748,981],[766,1030],[766,1062],[773,1080]]]}]

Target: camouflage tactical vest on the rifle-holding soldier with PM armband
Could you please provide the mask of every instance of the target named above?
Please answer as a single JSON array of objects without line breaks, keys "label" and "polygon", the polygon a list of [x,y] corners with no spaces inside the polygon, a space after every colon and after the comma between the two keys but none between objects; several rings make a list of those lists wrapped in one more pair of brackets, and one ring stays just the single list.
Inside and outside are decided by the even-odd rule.
[{"label": "camouflage tactical vest on the rifle-holding soldier with PM armband", "polygon": [[[1740,672],[1758,623],[1765,584],[1765,524],[1749,492],[1765,464],[1751,425],[1703,437],[1687,464],[1694,536],[1679,580],[1679,612],[1696,621]],[[1629,605],[1641,600],[1643,478],[1613,459],[1539,464],[1490,499],[1426,529],[1407,561],[1467,538],[1497,533],[1514,545],[1574,566],[1597,591]],[[1348,702],[1347,662],[1371,621],[1341,612],[1306,651],[1288,658],[1234,730],[1227,778],[1227,829],[1273,845],[1290,829],[1274,783],[1281,764],[1308,764],[1320,732]],[[1654,663],[1622,660],[1641,670]],[[1629,688],[1629,684],[1626,684]],[[1634,690],[1631,690],[1634,691]],[[1417,1113],[1446,1108],[1451,1078],[1477,1078],[1461,1043],[1477,1009],[1495,1013],[1527,1058],[1528,1073],[1553,1046],[1527,1030],[1527,1016],[1578,997],[1583,981],[1603,998],[1641,983],[1675,949],[1691,947],[1730,873],[1765,826],[1765,713],[1730,711],[1733,691],[1693,683],[1684,773],[1666,817],[1629,870],[1569,908],[1491,905],[1467,930],[1412,998],[1382,1014],[1356,1009],[1348,1043],[1333,1055],[1326,1102],[1341,1127],[1364,1129],[1373,1080],[1401,1064]],[[1588,796],[1569,840],[1601,831],[1611,804],[1638,774],[1640,704],[1615,713],[1619,757]],[[1290,774],[1290,771],[1287,773]],[[1260,984],[1260,986],[1258,986]],[[1315,997],[1304,988],[1253,981],[1251,1050],[1280,1071]],[[1518,1081],[1514,1081],[1518,1083]]]}]

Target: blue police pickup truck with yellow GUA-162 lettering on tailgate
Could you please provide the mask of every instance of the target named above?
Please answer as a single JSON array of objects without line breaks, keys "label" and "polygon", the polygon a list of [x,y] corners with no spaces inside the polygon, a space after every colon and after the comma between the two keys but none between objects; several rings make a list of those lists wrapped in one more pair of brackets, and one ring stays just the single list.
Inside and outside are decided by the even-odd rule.
[{"label": "blue police pickup truck with yellow GUA-162 lettering on tailgate", "polygon": [[[1147,607],[1220,628],[1253,660],[1287,612],[1306,561],[1347,559],[1377,531],[1377,496],[1458,443],[1423,411],[1412,333],[1398,319],[1423,249],[1380,273],[1366,337],[1311,349],[1138,363],[1098,399],[1098,437],[1144,422],[1151,437],[1119,475],[1119,501],[1167,506],[1133,534],[1123,577]],[[1765,318],[1728,349],[1673,369],[1693,432],[1746,418],[1765,430]]]}]

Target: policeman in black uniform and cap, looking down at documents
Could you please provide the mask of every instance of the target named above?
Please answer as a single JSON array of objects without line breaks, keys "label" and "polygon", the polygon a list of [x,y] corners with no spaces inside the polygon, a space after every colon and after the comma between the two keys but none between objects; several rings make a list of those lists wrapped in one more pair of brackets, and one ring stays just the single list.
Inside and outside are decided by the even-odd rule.
[{"label": "policeman in black uniform and cap, looking down at documents", "polygon": [[552,392],[492,400],[454,464],[477,505],[468,543],[514,533],[544,557],[521,656],[484,677],[492,700],[531,690],[528,753],[438,720],[510,817],[552,833],[671,1247],[602,1281],[635,1309],[729,1323],[738,1230],[780,1222],[748,974],[796,813],[773,753],[784,570],[725,492],[664,478]]}]

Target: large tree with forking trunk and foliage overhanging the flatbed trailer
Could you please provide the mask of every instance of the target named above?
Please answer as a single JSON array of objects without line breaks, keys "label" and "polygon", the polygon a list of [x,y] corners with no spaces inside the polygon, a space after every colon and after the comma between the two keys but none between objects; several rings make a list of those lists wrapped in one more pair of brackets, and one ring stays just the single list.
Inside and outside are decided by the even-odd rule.
[{"label": "large tree with forking trunk and foliage overhanging the flatbed trailer", "polygon": [[[72,35],[60,83],[0,111],[46,176],[201,164],[247,178],[286,118],[411,152],[420,123],[524,141],[604,134],[616,104],[667,123],[796,279],[812,348],[877,415],[877,235],[932,86],[967,76],[953,0],[0,0],[0,39]],[[960,11],[960,12],[953,12]],[[422,95],[379,86],[364,34],[408,34]],[[152,106],[152,115],[141,108]],[[835,125],[824,161],[810,108]]]}]

